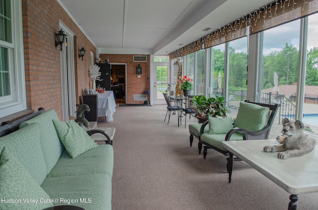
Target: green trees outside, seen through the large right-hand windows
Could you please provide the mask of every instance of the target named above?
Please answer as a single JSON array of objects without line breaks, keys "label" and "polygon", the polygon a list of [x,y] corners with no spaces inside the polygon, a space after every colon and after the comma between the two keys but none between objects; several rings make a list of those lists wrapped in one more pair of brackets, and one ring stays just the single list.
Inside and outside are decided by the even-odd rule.
[{"label": "green trees outside, seen through the large right-hand windows", "polygon": [[[224,51],[212,49],[213,78],[221,73],[224,78]],[[299,51],[292,45],[285,44],[281,51],[274,51],[263,55],[262,89],[274,87],[274,72],[279,76],[279,85],[292,85],[297,82]],[[230,47],[230,90],[246,90],[246,62],[245,52],[235,52]],[[224,80],[222,79],[222,82]],[[223,84],[222,84],[223,85]],[[306,85],[318,86],[318,47],[307,52]]]}]

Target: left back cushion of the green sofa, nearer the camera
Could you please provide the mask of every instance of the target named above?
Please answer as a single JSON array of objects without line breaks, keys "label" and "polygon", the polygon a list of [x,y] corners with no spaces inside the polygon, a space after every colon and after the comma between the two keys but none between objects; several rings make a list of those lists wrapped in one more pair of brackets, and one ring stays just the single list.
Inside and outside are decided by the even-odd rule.
[{"label": "left back cushion of the green sofa, nearer the camera", "polygon": [[47,170],[40,146],[40,125],[31,123],[13,133],[0,137],[0,151],[9,149],[20,160],[38,184],[44,181]]}]

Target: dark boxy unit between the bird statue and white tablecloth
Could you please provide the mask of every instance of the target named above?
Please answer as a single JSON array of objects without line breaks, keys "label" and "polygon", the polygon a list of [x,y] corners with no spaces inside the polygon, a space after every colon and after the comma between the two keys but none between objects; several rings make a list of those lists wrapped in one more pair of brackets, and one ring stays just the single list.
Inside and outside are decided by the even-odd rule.
[{"label": "dark boxy unit between the bird statue and white tablecloth", "polygon": [[84,112],[85,119],[87,121],[98,121],[98,96],[96,94],[84,95],[83,96],[83,104],[88,105],[90,111]]}]

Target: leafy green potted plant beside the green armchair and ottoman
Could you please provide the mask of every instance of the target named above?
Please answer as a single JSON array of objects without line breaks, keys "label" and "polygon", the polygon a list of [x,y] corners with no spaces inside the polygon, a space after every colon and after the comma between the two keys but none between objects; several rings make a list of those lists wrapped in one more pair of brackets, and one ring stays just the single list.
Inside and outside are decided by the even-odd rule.
[{"label": "leafy green potted plant beside the green armchair and ottoman", "polygon": [[192,103],[194,105],[194,110],[198,113],[196,118],[198,118],[199,123],[204,122],[209,116],[213,117],[226,117],[227,107],[225,106],[224,97],[211,97],[206,98],[205,96],[194,96]]}]

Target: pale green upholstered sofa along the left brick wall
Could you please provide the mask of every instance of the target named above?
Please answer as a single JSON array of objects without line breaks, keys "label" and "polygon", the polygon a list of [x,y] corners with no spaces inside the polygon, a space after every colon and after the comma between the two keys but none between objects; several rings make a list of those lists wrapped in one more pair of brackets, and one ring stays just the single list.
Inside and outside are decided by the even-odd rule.
[{"label": "pale green upholstered sofa along the left brick wall", "polygon": [[[85,152],[77,148],[77,157],[73,158],[60,140],[56,123],[71,126],[59,121],[50,109],[0,137],[1,210],[41,210],[61,205],[85,210],[112,208],[113,147],[97,145],[77,125],[84,132],[83,147],[87,138],[92,142],[87,142],[90,148]],[[69,132],[68,128],[65,131]]]}]

